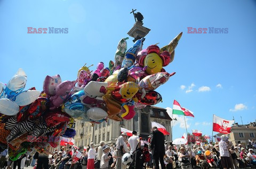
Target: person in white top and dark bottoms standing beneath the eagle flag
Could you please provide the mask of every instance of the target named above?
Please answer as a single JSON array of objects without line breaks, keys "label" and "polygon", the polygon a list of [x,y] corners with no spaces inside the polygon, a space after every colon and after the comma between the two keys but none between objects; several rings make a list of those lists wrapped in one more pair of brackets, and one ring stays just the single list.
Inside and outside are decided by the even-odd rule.
[{"label": "person in white top and dark bottoms standing beneath the eagle flag", "polygon": [[221,158],[221,164],[224,169],[231,168],[232,163],[229,158],[229,143],[227,136],[221,136],[220,140],[220,158]]}]

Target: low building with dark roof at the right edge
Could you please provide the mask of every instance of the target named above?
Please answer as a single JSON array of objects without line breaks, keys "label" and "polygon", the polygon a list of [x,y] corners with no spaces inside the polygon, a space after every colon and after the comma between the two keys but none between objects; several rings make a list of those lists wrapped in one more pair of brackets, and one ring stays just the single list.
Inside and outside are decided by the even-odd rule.
[{"label": "low building with dark roof at the right edge", "polygon": [[[246,124],[246,125],[240,125],[238,123],[235,123],[231,127],[231,132],[229,134],[225,134],[229,141],[231,141],[233,144],[237,143],[238,141],[241,141],[243,145],[247,145],[249,140],[256,140],[256,122]],[[218,136],[221,136],[223,134],[217,134]]]}]

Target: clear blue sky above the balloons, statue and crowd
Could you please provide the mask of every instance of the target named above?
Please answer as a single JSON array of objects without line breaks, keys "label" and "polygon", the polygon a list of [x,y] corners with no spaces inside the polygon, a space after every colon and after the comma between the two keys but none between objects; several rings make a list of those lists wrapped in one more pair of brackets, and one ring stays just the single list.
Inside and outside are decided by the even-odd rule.
[{"label": "clear blue sky above the balloons, statue and crowd", "polygon": [[[195,118],[187,117],[188,132],[210,135],[213,114],[227,120],[234,116],[238,123],[240,116],[244,123],[255,121],[255,1],[2,0],[0,81],[7,83],[21,67],[28,76],[26,88],[42,90],[46,75],[75,80],[84,63],[94,64],[91,70],[101,61],[107,66],[134,24],[132,9],[142,13],[143,26],[151,29],[143,48],[162,47],[183,32],[174,61],[164,67],[177,73],[157,89],[163,103],[156,106],[172,108],[176,99],[194,112]],[[68,33],[28,34],[27,27],[68,28]],[[228,28],[228,33],[188,34],[187,27]],[[127,42],[130,48],[132,38]],[[178,119],[173,138],[186,131],[183,117]]]}]

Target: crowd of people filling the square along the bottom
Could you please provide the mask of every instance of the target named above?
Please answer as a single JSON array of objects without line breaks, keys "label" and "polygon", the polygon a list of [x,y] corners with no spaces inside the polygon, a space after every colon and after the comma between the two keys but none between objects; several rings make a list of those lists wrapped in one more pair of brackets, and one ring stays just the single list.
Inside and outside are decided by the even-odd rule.
[{"label": "crowd of people filling the square along the bottom", "polygon": [[[116,143],[99,147],[91,142],[86,149],[75,146],[61,147],[53,153],[49,150],[31,155],[22,155],[12,162],[8,150],[1,153],[0,169],[24,168],[31,165],[35,169],[94,169],[94,168],[245,168],[256,167],[256,145],[254,140],[247,146],[241,142],[233,145],[226,136],[221,141],[200,144],[172,145],[164,140],[162,132],[152,129],[149,145],[141,143],[137,132],[127,138],[126,132],[116,139]],[[80,156],[77,156],[78,151]],[[78,158],[77,158],[78,157]]]}]

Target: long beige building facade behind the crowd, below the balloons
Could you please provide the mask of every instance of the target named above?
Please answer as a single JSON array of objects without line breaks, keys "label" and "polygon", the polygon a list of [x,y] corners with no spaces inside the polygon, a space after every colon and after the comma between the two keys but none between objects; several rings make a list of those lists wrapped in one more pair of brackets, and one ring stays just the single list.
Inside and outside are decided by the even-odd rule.
[{"label": "long beige building facade behind the crowd, below the balloons", "polygon": [[[98,146],[101,140],[105,141],[106,144],[115,143],[115,139],[121,134],[121,128],[131,131],[135,130],[138,132],[138,136],[142,137],[143,140],[147,140],[151,131],[151,122],[162,124],[168,132],[172,132],[172,119],[167,114],[165,108],[147,106],[142,109],[135,108],[135,112],[136,114],[131,120],[124,120],[122,122],[108,120],[94,126],[89,122],[76,120],[75,130],[77,134],[75,136],[75,145],[87,146],[93,141]],[[165,140],[171,141],[171,134],[165,136]]]}]

